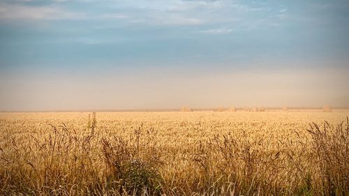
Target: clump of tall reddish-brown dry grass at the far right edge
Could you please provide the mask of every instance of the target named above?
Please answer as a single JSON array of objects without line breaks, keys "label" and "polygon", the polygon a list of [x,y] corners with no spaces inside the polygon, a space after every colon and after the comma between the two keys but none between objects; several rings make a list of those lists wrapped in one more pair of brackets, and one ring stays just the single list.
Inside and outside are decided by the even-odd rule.
[{"label": "clump of tall reddish-brown dry grass at the far right edge", "polygon": [[349,121],[337,126],[325,121],[323,128],[316,123],[308,130],[313,153],[313,186],[324,195],[349,194]]}]

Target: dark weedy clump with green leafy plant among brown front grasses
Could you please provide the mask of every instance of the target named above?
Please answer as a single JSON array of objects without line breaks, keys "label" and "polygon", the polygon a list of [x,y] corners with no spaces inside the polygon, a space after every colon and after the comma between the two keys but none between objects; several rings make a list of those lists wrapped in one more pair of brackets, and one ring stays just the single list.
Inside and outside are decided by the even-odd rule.
[{"label": "dark weedy clump with green leafy plant among brown front grasses", "polygon": [[103,138],[102,151],[109,171],[107,188],[116,188],[120,194],[160,195],[160,154],[156,144],[140,138],[141,128],[135,130],[133,141],[121,137]]}]

